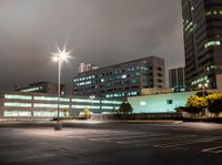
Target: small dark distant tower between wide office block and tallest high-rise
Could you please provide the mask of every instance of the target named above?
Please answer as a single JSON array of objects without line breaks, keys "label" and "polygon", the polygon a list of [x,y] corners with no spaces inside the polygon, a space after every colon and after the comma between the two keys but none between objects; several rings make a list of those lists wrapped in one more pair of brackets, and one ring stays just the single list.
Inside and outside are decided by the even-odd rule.
[{"label": "small dark distant tower between wide office block and tallest high-rise", "polygon": [[172,89],[173,92],[185,91],[184,68],[169,70],[169,86]]}]

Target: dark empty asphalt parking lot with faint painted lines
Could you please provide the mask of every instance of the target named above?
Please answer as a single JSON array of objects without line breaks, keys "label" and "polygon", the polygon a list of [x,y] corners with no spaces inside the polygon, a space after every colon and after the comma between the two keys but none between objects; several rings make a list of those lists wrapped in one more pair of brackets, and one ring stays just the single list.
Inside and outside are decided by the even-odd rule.
[{"label": "dark empty asphalt parking lot with faint painted lines", "polygon": [[0,164],[221,164],[222,125],[206,123],[0,124]]}]

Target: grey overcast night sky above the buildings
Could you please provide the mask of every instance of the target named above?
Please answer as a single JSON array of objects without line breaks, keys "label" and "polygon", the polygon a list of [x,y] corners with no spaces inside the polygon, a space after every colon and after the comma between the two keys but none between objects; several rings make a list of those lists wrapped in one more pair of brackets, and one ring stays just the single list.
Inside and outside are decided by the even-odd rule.
[{"label": "grey overcast night sky above the buildings", "polygon": [[56,44],[73,49],[64,83],[80,62],[158,55],[167,70],[184,65],[181,0],[0,0],[0,90],[57,82]]}]

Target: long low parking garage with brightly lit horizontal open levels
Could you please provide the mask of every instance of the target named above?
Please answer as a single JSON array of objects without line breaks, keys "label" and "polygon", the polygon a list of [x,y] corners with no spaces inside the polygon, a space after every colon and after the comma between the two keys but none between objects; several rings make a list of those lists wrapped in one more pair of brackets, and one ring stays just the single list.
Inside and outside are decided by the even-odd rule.
[{"label": "long low parking garage with brightly lit horizontal open levels", "polygon": [[[85,107],[92,113],[112,113],[122,100],[62,95],[60,116],[79,115]],[[56,117],[58,96],[49,93],[0,92],[0,117]]]}]

